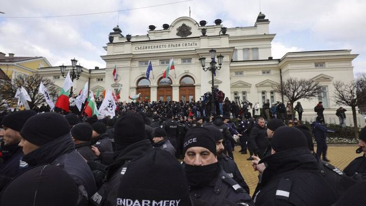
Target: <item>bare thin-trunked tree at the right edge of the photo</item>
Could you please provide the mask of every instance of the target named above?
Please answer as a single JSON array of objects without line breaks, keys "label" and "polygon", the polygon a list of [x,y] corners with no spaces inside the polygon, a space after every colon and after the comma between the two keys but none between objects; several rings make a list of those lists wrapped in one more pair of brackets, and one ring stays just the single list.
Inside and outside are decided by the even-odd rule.
[{"label": "bare thin-trunked tree at the right edge of the photo", "polygon": [[336,81],[333,85],[335,89],[333,100],[352,109],[355,137],[358,137],[356,107],[366,102],[366,75],[348,83]]}]

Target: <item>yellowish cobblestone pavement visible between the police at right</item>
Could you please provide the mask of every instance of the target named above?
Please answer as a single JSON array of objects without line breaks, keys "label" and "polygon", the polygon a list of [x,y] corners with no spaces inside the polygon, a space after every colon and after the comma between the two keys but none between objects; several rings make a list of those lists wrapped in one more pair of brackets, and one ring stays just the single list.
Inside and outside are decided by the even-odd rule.
[{"label": "yellowish cobblestone pavement visible between the police at right", "polygon": [[[357,145],[328,145],[328,159],[330,160],[329,163],[343,170],[353,159],[362,155],[356,154],[357,148]],[[252,196],[258,183],[258,172],[253,170],[251,161],[247,160],[249,154],[240,154],[239,150],[240,147],[236,146],[234,151],[234,159],[244,177],[244,180],[249,185],[250,195]]]}]

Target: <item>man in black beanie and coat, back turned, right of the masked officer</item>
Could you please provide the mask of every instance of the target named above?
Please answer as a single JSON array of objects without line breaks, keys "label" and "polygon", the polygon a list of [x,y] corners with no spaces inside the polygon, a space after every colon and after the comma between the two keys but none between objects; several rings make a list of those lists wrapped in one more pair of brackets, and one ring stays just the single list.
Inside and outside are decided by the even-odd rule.
[{"label": "man in black beanie and coat, back turned, right of the masked officer", "polygon": [[261,182],[255,189],[256,206],[332,205],[337,200],[311,154],[306,137],[296,128],[276,129],[271,141],[272,155],[266,163]]}]

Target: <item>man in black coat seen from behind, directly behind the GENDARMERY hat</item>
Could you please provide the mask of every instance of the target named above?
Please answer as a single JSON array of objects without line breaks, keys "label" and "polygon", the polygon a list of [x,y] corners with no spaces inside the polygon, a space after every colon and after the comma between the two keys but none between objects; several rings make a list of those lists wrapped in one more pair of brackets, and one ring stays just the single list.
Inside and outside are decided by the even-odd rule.
[{"label": "man in black coat seen from behind, directly behind the GENDARMERY hat", "polygon": [[120,175],[126,172],[128,163],[153,150],[150,140],[146,139],[145,123],[136,113],[127,112],[117,119],[115,142],[116,158],[108,167],[105,183],[91,198],[92,205],[116,205]]}]

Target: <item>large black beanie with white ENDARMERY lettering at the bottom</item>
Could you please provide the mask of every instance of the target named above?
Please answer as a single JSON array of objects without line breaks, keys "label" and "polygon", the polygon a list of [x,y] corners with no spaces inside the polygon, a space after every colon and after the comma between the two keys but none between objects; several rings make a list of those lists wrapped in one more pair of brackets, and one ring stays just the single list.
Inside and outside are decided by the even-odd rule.
[{"label": "large black beanie with white ENDARMERY lettering at the bottom", "polygon": [[117,205],[168,205],[166,201],[174,206],[190,205],[187,179],[182,165],[172,155],[155,148],[127,165]]}]

